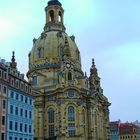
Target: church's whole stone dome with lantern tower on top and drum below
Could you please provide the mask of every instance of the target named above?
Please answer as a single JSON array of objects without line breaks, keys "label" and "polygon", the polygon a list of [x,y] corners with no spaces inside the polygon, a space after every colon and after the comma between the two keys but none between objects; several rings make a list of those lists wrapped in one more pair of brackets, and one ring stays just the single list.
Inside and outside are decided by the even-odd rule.
[{"label": "church's whole stone dome with lantern tower on top and drum below", "polygon": [[27,77],[34,87],[49,89],[68,79],[75,82],[84,75],[75,36],[68,36],[65,32],[62,4],[58,0],[50,0],[45,13],[44,31],[38,39],[33,39],[29,53]]}]

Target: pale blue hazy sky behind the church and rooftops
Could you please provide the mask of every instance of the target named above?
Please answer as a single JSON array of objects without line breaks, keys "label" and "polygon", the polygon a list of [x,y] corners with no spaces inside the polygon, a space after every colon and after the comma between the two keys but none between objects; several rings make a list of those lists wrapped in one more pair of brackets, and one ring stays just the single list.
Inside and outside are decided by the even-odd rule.
[{"label": "pale blue hazy sky behind the church and rooftops", "polygon": [[[18,69],[28,70],[32,40],[45,24],[47,0],[0,1],[0,57],[16,53]],[[76,36],[83,71],[95,58],[110,120],[140,120],[140,0],[60,0],[65,26]]]}]

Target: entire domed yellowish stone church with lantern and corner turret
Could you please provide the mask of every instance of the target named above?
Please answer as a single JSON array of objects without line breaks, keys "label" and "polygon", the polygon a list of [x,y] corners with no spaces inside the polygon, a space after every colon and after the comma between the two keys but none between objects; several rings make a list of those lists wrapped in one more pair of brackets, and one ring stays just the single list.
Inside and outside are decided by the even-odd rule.
[{"label": "entire domed yellowish stone church with lantern and corner turret", "polygon": [[50,0],[44,32],[33,40],[27,77],[36,90],[34,137],[38,140],[108,140],[109,106],[94,60],[87,77],[64,10]]}]

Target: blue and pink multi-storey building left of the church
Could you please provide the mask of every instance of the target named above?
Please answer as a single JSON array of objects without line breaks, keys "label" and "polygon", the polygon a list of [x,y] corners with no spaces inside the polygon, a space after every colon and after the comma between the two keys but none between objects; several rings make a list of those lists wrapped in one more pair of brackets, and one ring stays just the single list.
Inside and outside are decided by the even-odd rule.
[{"label": "blue and pink multi-storey building left of the church", "polygon": [[14,52],[0,61],[1,140],[33,140],[33,91],[16,65]]}]

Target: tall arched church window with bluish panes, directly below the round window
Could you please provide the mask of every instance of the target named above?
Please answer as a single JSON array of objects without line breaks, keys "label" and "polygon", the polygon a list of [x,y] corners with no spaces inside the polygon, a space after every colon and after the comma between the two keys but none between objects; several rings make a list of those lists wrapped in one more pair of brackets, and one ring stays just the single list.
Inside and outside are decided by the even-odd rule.
[{"label": "tall arched church window with bluish panes, directly below the round window", "polygon": [[75,136],[75,110],[73,106],[68,107],[68,133],[70,137]]}]

